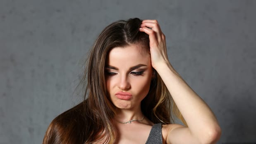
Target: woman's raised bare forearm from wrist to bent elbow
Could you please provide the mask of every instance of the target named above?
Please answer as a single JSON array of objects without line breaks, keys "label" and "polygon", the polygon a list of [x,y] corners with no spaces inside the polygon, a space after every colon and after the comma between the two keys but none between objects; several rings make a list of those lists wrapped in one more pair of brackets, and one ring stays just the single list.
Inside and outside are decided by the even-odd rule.
[{"label": "woman's raised bare forearm from wrist to bent elbow", "polygon": [[156,67],[179,111],[187,122],[191,135],[211,137],[219,131],[218,121],[208,105],[187,85],[169,64]]}]

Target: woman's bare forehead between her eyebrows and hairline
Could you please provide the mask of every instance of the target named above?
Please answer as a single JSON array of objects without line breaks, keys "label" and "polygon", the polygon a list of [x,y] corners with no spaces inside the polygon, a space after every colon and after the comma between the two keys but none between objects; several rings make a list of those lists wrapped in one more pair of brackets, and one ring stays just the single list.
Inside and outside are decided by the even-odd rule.
[{"label": "woman's bare forehead between her eyebrows and hairline", "polygon": [[108,65],[113,66],[134,66],[136,64],[151,64],[150,53],[139,45],[114,47],[108,53]]}]

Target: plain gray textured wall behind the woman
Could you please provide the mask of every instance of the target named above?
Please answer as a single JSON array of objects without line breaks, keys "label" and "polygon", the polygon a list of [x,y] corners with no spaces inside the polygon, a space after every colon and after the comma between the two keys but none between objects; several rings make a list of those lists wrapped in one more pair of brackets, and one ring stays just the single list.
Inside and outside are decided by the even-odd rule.
[{"label": "plain gray textured wall behind the woman", "polygon": [[82,99],[86,52],[113,21],[157,19],[172,65],[215,112],[223,142],[256,142],[256,1],[1,0],[0,144],[40,144]]}]

